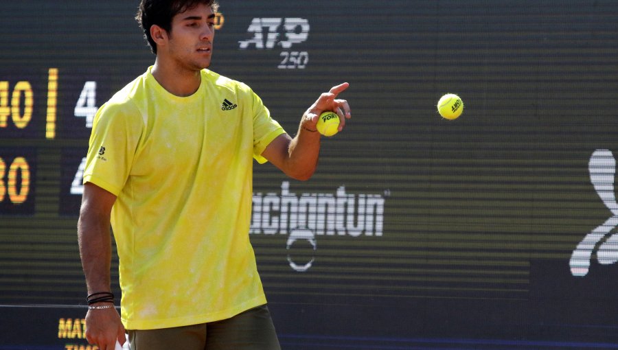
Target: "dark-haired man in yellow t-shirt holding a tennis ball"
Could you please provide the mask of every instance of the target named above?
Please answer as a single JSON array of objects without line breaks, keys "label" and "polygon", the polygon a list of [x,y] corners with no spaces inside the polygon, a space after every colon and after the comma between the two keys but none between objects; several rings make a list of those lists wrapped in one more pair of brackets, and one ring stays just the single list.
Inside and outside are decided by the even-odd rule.
[{"label": "dark-haired man in yellow t-shirt holding a tennis ball", "polygon": [[[291,138],[247,85],[206,69],[217,8],[142,0],[137,19],[155,65],[95,116],[78,239],[86,335],[99,349],[124,343],[125,331],[138,350],[279,349],[249,242],[253,159],[310,178],[317,118],[334,110],[343,128],[350,107],[337,95],[348,84],[321,94]],[[122,320],[110,293],[110,222]]]}]

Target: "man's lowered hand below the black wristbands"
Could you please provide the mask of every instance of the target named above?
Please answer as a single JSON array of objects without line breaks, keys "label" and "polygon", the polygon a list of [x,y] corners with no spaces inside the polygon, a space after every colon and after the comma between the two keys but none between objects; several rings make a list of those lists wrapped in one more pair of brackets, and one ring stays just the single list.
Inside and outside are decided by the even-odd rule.
[{"label": "man's lowered hand below the black wristbands", "polygon": [[88,310],[86,314],[86,340],[100,350],[114,350],[116,340],[122,345],[126,341],[125,330],[115,307]]}]

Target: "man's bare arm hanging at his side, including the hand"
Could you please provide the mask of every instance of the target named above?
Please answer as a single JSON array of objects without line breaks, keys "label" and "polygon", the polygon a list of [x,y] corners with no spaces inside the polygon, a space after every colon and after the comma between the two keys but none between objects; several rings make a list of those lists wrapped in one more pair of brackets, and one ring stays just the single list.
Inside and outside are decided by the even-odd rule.
[{"label": "man's bare arm hanging at his side, including the hand", "polygon": [[[84,185],[78,242],[82,268],[86,276],[88,294],[110,292],[111,235],[109,231],[111,208],[116,196],[87,183]],[[111,305],[96,303],[92,306]],[[116,340],[124,343],[124,327],[115,308],[88,310],[86,338],[100,349],[114,349]]]}]

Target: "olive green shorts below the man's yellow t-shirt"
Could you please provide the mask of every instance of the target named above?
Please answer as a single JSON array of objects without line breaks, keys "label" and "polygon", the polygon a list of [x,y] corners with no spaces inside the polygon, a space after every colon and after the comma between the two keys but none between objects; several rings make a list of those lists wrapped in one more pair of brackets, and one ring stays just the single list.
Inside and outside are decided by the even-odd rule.
[{"label": "olive green shorts below the man's yellow t-shirt", "polygon": [[129,330],[131,350],[280,350],[266,305],[200,325]]}]

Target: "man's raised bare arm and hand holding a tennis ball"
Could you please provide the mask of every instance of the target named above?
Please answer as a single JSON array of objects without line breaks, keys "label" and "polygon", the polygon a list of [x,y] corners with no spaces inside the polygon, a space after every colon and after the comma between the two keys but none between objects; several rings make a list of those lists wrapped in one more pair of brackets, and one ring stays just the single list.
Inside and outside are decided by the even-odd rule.
[{"label": "man's raised bare arm and hand holding a tennis ball", "polygon": [[291,178],[308,180],[317,167],[320,151],[320,134],[316,130],[317,119],[325,110],[332,110],[339,115],[339,131],[345,127],[345,119],[352,117],[350,106],[345,100],[338,100],[339,93],[349,84],[333,86],[328,93],[323,93],[304,113],[298,126],[298,132],[292,139],[289,135],[279,135],[274,139],[262,156]]}]

